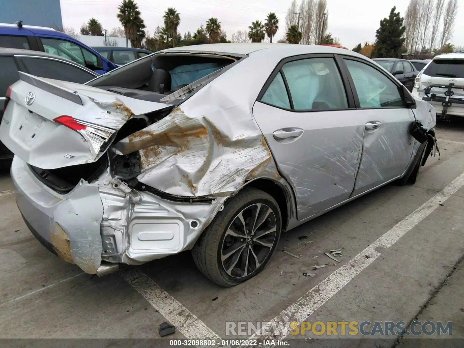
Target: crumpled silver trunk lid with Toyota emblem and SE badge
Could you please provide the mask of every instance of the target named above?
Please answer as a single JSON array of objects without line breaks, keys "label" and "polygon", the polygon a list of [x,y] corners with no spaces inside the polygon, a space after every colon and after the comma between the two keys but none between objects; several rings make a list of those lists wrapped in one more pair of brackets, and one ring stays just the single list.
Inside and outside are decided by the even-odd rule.
[{"label": "crumpled silver trunk lid with Toyota emblem and SE badge", "polygon": [[[167,108],[96,87],[19,74],[0,125],[0,141],[38,168],[97,161],[129,118]],[[67,123],[57,122],[60,116],[68,116],[58,119]]]}]

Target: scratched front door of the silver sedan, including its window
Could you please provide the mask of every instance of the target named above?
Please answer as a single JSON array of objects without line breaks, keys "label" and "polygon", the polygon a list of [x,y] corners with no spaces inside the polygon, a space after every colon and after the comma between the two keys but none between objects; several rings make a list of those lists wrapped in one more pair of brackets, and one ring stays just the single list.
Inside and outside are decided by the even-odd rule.
[{"label": "scratched front door of the silver sedan, including its window", "polygon": [[397,82],[374,64],[345,57],[354,90],[357,116],[363,120],[364,142],[354,192],[369,191],[399,178],[412,159],[415,140],[409,134],[414,121]]}]

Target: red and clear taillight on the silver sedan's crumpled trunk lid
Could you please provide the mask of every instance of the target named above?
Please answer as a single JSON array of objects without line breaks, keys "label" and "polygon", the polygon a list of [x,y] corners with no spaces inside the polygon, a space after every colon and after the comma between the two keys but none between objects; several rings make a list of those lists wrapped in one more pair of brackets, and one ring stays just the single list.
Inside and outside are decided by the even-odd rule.
[{"label": "red and clear taillight on the silver sedan's crumpled trunk lid", "polygon": [[[68,115],[61,115],[53,119],[53,121],[77,131],[82,135],[85,141],[90,143],[92,152],[97,155],[109,146],[109,139],[115,133],[114,129],[109,129],[96,124],[87,123],[76,120]],[[106,145],[106,146],[105,146]]]}]

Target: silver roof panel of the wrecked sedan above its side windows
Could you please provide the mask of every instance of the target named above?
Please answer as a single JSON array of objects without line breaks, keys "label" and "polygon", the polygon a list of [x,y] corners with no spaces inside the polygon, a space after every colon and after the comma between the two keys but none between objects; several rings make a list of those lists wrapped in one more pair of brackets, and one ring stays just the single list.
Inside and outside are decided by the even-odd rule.
[{"label": "silver roof panel of the wrecked sedan above its side windows", "polygon": [[266,50],[269,53],[275,52],[279,56],[292,56],[298,54],[311,53],[339,53],[354,57],[366,58],[365,56],[354,51],[345,50],[338,47],[329,47],[322,45],[295,45],[295,44],[271,44],[271,43],[224,43],[224,44],[207,44],[194,46],[181,46],[168,48],[166,50],[155,53],[169,52],[192,52],[192,53],[222,53],[222,54],[237,54],[248,55],[256,51]]}]

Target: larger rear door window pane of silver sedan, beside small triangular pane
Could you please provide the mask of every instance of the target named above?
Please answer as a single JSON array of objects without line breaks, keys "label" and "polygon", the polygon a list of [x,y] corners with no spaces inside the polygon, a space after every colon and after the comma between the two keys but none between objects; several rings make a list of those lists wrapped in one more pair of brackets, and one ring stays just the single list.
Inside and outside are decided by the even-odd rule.
[{"label": "larger rear door window pane of silver sedan, beside small triangular pane", "polygon": [[282,67],[295,110],[347,108],[342,78],[333,58],[296,60]]}]

